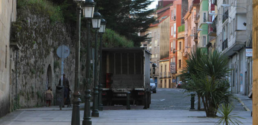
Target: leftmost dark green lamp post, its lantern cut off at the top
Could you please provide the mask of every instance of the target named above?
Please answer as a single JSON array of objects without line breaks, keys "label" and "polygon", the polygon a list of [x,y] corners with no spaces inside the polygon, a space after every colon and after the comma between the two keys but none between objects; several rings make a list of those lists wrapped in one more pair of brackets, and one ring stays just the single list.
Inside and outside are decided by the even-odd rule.
[{"label": "leftmost dark green lamp post, its lantern cut off at the top", "polygon": [[74,82],[74,99],[73,99],[73,112],[72,112],[72,125],[80,124],[80,92],[79,92],[79,79],[80,79],[80,39],[81,39],[81,4],[85,2],[85,0],[73,0],[77,7],[77,24],[76,24],[76,52],[75,52],[75,82]]}]

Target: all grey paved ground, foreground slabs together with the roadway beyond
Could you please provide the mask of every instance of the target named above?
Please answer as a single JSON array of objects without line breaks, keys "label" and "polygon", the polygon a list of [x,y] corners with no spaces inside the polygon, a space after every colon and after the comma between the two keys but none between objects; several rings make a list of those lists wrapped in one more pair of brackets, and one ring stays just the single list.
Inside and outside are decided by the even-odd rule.
[{"label": "all grey paved ground, foreground slabs together with the roadway beyond", "polygon": [[[99,111],[100,117],[93,117],[93,125],[214,125],[220,118],[206,118],[204,111],[189,111],[190,97],[182,94],[182,89],[157,89],[152,94],[151,106],[148,110],[132,107],[131,110]],[[165,99],[165,100],[164,100]],[[197,102],[196,102],[197,103]],[[232,112],[245,119],[239,119],[245,125],[252,124],[251,111],[243,110],[240,103],[234,102],[236,108]],[[197,104],[196,104],[197,106]],[[26,108],[16,110],[0,118],[0,125],[70,125],[71,108],[58,106],[51,108]],[[164,110],[165,109],[165,110]],[[81,122],[83,110],[80,111]],[[81,123],[82,124],[82,123]]]}]

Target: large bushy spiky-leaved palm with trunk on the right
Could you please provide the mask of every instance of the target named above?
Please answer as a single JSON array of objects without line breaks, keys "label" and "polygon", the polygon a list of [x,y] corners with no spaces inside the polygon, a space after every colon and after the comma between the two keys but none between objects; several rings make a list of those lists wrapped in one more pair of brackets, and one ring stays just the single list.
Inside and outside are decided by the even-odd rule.
[{"label": "large bushy spiky-leaved palm with trunk on the right", "polygon": [[227,78],[230,71],[228,59],[218,51],[207,55],[198,48],[189,54],[186,68],[182,71],[182,76],[188,79],[185,92],[194,91],[202,98],[207,117],[216,116],[217,110],[214,109],[218,109],[222,102],[231,101],[233,94],[228,92]]}]

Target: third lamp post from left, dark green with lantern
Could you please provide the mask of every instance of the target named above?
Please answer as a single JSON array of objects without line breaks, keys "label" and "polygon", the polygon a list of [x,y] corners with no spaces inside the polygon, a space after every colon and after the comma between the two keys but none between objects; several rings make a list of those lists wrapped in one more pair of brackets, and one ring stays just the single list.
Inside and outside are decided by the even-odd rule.
[{"label": "third lamp post from left, dark green with lantern", "polygon": [[93,108],[91,112],[92,117],[99,117],[99,110],[98,110],[98,32],[97,30],[100,28],[100,23],[101,23],[101,14],[97,12],[97,10],[93,14],[92,18],[92,28],[95,29],[95,61],[94,61],[94,96],[93,96]]}]

